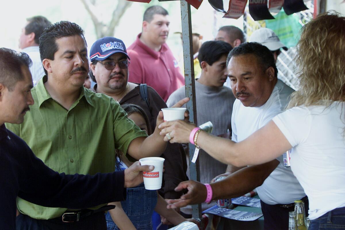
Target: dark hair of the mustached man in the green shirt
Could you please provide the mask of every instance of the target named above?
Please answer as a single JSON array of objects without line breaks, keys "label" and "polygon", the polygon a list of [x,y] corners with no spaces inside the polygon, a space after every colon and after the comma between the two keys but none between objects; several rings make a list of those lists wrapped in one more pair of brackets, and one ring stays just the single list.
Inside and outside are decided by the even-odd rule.
[{"label": "dark hair of the mustached man in the green shirt", "polygon": [[[40,37],[39,46],[41,61],[43,61],[43,59],[54,60],[54,54],[58,51],[58,45],[55,42],[56,39],[75,35],[80,35],[85,40],[83,29],[76,23],[60,21],[48,26]],[[48,74],[46,69],[44,71]]]}]

